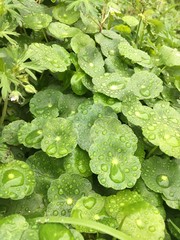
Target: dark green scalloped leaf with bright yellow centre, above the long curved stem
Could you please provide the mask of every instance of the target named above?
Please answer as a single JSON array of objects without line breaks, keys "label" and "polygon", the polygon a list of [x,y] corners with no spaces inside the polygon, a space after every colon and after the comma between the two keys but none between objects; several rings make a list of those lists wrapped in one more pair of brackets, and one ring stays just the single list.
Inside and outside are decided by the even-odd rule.
[{"label": "dark green scalloped leaf with bright yellow centre, above the long curved stem", "polygon": [[77,200],[90,194],[91,189],[88,179],[78,174],[62,174],[48,189],[47,215],[69,216]]}]

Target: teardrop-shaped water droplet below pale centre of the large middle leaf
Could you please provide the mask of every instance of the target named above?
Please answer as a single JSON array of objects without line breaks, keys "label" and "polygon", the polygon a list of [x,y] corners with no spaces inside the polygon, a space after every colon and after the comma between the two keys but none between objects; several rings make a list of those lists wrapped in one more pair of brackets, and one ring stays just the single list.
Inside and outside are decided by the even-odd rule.
[{"label": "teardrop-shaped water droplet below pale centre of the large middle leaf", "polygon": [[121,171],[119,164],[111,165],[109,177],[115,183],[121,183],[124,181],[124,173]]}]

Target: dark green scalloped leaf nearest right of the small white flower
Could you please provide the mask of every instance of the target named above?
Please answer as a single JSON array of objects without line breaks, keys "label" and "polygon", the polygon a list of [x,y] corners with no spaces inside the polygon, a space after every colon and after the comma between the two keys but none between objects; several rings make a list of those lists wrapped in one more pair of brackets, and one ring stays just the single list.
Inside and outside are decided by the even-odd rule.
[{"label": "dark green scalloped leaf nearest right of the small white flower", "polygon": [[58,117],[58,102],[62,98],[63,94],[56,89],[45,89],[43,91],[39,91],[30,100],[30,112],[35,117]]}]

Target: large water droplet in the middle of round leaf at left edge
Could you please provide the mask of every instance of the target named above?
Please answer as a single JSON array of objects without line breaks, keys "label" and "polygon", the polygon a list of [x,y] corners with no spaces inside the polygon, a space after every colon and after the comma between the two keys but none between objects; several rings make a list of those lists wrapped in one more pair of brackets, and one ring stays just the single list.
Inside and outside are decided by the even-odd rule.
[{"label": "large water droplet in the middle of round leaf at left edge", "polygon": [[4,187],[18,187],[24,184],[24,175],[17,170],[8,170],[3,174]]}]

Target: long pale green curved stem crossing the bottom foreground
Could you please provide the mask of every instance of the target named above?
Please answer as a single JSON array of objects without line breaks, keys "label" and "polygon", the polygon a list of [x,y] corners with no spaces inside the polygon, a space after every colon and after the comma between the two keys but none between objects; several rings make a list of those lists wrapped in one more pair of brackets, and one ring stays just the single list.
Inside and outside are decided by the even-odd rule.
[{"label": "long pale green curved stem crossing the bottom foreground", "polygon": [[131,236],[128,236],[127,234],[121,231],[118,231],[114,228],[111,228],[107,225],[98,223],[96,221],[86,220],[86,219],[50,216],[50,217],[36,218],[36,223],[62,223],[62,224],[79,225],[79,226],[95,229],[99,232],[103,232],[119,240],[136,240],[135,238],[132,238]]}]

